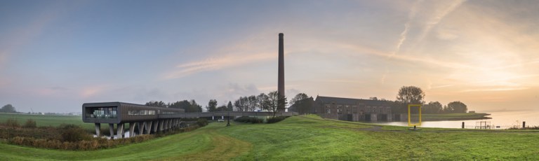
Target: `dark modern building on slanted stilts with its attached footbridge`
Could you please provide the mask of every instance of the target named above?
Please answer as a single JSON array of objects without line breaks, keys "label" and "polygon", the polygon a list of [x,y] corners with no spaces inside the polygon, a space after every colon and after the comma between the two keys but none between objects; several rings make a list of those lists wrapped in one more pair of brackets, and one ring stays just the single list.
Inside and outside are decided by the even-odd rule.
[{"label": "dark modern building on slanted stilts with its attached footbridge", "polygon": [[[295,116],[296,112],[279,111],[276,116]],[[239,116],[273,116],[272,112],[255,111],[218,111],[203,113],[185,113],[184,109],[171,109],[142,104],[129,104],[124,102],[99,102],[82,105],[82,120],[84,123],[94,123],[95,134],[99,137],[101,124],[109,124],[110,137],[121,139],[126,133],[124,125],[129,124],[129,136],[135,136],[135,127],[138,134],[155,134],[180,127],[182,118],[225,118]],[[116,130],[114,130],[116,125]]]}]

